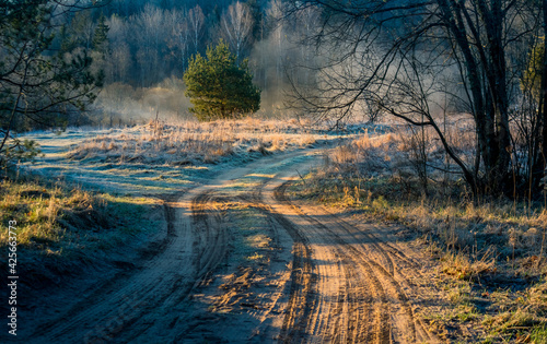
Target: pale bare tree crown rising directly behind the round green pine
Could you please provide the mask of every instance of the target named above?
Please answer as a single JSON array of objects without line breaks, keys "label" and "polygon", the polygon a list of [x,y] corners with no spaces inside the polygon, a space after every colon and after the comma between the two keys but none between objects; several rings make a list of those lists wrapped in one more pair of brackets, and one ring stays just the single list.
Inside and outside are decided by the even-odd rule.
[{"label": "pale bare tree crown rising directly behind the round green pine", "polygon": [[236,1],[228,8],[221,19],[224,34],[237,61],[251,38],[254,19],[247,5]]}]

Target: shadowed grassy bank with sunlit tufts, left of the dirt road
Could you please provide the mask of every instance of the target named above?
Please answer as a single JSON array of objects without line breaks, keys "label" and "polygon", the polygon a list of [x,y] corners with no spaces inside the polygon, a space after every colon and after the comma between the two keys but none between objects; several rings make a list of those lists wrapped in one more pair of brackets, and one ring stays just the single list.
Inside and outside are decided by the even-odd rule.
[{"label": "shadowed grassy bank with sunlit tufts, left of the dirt road", "polygon": [[[153,233],[155,226],[146,218],[146,210],[156,203],[62,182],[5,179],[0,181],[0,250],[8,252],[8,224],[15,222],[16,272],[28,285],[48,285],[65,275],[101,268],[114,249],[139,234]],[[0,269],[7,268],[3,260]]]}]

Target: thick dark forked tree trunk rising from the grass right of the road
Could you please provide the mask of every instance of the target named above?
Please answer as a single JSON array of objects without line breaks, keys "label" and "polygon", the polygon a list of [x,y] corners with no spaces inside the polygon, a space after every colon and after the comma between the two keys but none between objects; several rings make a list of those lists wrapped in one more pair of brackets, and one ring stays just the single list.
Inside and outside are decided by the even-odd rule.
[{"label": "thick dark forked tree trunk rising from the grass right of the road", "polygon": [[[454,0],[439,0],[438,3],[462,54],[469,85],[479,154],[486,173],[484,185],[488,189],[479,192],[505,192],[511,189],[511,138],[501,1],[492,0],[487,5],[485,0],[476,0],[474,4],[480,17],[475,20],[467,8]],[[487,33],[487,41],[482,43],[481,24]],[[477,181],[479,185],[481,182]]]}]

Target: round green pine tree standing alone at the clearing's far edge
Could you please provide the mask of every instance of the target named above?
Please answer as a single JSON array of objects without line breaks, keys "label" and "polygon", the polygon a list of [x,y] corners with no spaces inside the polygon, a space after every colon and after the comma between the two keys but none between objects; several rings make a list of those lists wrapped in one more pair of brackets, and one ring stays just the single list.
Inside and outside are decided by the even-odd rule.
[{"label": "round green pine tree standing alone at the clearing's far edge", "polygon": [[190,59],[184,81],[194,105],[190,111],[200,121],[236,118],[260,107],[260,90],[253,85],[248,61],[237,64],[222,40],[207,49],[206,58],[198,54]]}]

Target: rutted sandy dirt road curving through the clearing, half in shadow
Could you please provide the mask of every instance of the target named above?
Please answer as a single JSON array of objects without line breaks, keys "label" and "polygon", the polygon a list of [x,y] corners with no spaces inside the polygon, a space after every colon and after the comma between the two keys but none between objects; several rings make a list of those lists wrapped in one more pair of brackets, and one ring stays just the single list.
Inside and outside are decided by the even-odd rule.
[{"label": "rutted sandy dirt road curving through the clearing, half in shadow", "polygon": [[[288,198],[319,162],[319,150],[278,154],[166,198],[165,225],[135,268],[26,342],[438,342],[416,316],[430,297],[420,256],[394,228]],[[238,249],[241,209],[268,242],[259,259]]]}]

